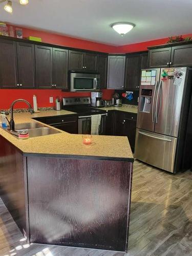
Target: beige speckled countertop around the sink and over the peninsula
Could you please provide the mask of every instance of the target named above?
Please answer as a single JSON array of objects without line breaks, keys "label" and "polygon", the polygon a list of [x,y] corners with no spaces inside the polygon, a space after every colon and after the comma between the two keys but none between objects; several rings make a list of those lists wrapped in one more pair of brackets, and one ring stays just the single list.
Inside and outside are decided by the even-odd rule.
[{"label": "beige speckled countertop around the sink and over the peninsula", "polygon": [[[58,115],[75,114],[69,111],[42,111],[31,115],[30,113],[15,113],[15,123],[32,122],[33,117],[48,117]],[[45,124],[45,126],[48,126]],[[58,130],[54,127],[52,129]],[[58,130],[60,131],[60,130]],[[19,140],[13,135],[0,128],[0,135],[14,144],[19,150],[32,154],[55,154],[55,155],[77,155],[96,156],[109,158],[131,158],[133,154],[127,137],[121,136],[93,136],[91,145],[82,143],[82,135],[61,133]]]}]

